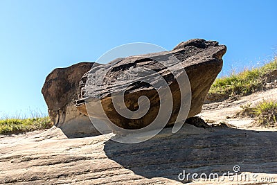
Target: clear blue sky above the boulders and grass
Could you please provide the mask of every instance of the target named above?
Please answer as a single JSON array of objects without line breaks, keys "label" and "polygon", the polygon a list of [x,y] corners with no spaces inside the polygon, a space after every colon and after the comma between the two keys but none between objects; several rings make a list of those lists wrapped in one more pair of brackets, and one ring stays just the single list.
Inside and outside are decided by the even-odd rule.
[{"label": "clear blue sky above the boulders and grass", "polygon": [[193,38],[228,48],[223,74],[265,62],[277,48],[277,1],[0,0],[0,118],[46,112],[48,73],[95,61],[121,44],[168,50]]}]

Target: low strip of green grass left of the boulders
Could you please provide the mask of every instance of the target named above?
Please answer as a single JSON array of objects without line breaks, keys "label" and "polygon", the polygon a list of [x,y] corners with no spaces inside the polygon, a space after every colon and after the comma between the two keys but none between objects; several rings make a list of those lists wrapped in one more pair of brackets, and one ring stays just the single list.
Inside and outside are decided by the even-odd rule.
[{"label": "low strip of green grass left of the boulders", "polygon": [[0,120],[0,134],[19,134],[52,127],[48,116],[42,118],[6,118]]}]

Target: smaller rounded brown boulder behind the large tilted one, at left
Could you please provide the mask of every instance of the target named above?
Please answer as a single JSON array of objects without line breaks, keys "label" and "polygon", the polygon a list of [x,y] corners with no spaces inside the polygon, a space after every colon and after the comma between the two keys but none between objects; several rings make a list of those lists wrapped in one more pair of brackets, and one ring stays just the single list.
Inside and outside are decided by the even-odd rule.
[{"label": "smaller rounded brown boulder behind the large tilted one, at left", "polygon": [[70,67],[54,69],[48,74],[42,87],[53,125],[62,127],[66,134],[96,132],[89,118],[80,114],[74,103],[80,93],[80,79],[93,65],[98,64],[80,62]]}]

